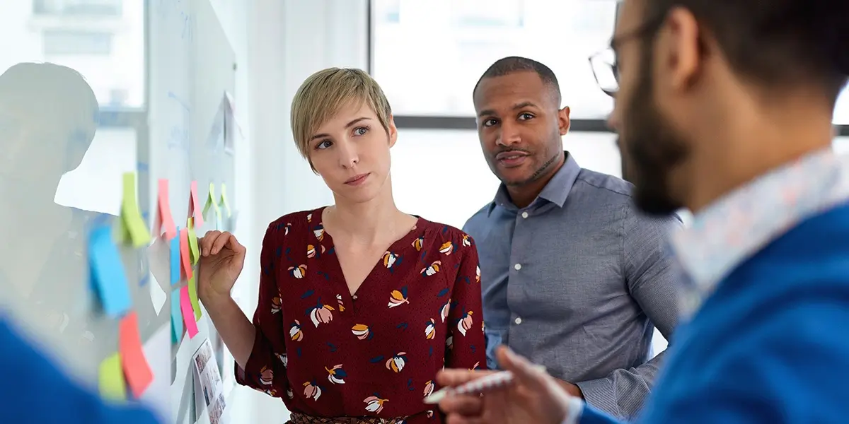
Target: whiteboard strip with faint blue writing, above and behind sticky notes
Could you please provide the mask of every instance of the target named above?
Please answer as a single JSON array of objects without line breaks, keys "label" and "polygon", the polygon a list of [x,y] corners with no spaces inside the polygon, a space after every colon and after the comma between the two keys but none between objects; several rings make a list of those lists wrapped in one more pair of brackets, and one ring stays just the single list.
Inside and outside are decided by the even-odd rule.
[{"label": "whiteboard strip with faint blue writing, above and behind sticky notes", "polygon": [[[197,182],[201,204],[207,198],[210,184],[220,198],[220,187],[227,187],[228,203],[235,204],[233,152],[224,145],[239,132],[233,120],[227,120],[234,99],[236,61],[222,25],[209,0],[171,0],[150,2],[150,143],[149,187],[157,181],[169,182],[169,203],[177,226],[185,226],[188,216],[189,186]],[[154,210],[156,192],[149,192]],[[231,210],[231,213],[235,213]],[[201,236],[208,230],[231,229],[222,210],[222,221],[216,222],[212,211],[202,226]],[[163,278],[154,279],[159,281]],[[185,284],[185,282],[181,283]],[[160,282],[171,290],[168,282]],[[177,287],[177,286],[175,286]],[[168,293],[170,304],[171,293]],[[167,304],[166,304],[167,308]],[[201,306],[202,308],[202,306]],[[199,334],[171,344],[171,396],[169,422],[207,422],[205,410],[194,403],[192,355],[207,338],[216,339],[214,327],[206,311],[197,322]],[[226,352],[217,352],[219,364],[228,362]],[[226,367],[222,366],[222,371]],[[222,372],[226,374],[226,372]],[[228,377],[223,375],[222,377]]]}]

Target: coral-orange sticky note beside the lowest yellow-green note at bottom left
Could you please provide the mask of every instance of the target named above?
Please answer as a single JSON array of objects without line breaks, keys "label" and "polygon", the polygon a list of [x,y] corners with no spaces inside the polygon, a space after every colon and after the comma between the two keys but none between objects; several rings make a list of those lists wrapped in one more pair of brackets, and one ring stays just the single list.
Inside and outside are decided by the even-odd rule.
[{"label": "coral-orange sticky note beside the lowest yellow-green note at bottom left", "polygon": [[124,368],[124,376],[130,384],[132,395],[138,399],[150,382],[154,381],[154,374],[150,371],[148,360],[144,358],[142,338],[138,335],[138,316],[135,312],[121,318],[118,326],[118,352],[121,353],[121,366]]}]

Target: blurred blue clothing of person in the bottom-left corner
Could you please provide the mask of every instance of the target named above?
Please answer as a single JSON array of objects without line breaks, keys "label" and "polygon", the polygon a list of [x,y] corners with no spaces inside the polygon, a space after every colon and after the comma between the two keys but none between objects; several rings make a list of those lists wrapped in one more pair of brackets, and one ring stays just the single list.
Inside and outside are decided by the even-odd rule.
[{"label": "blurred blue clothing of person in the bottom-left corner", "polygon": [[156,424],[135,404],[107,404],[72,382],[0,317],[0,422],[8,424]]}]

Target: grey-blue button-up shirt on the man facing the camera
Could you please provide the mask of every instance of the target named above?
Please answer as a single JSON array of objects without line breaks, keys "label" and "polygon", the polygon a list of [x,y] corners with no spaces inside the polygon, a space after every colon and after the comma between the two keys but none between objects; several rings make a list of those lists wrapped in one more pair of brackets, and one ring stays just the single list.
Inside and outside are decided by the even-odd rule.
[{"label": "grey-blue button-up shirt on the man facing the camera", "polygon": [[666,254],[674,218],[639,215],[631,185],[584,170],[571,154],[519,209],[505,187],[464,231],[481,260],[487,362],[507,344],[622,418],[636,416],[663,354],[655,326],[678,319],[677,271]]}]

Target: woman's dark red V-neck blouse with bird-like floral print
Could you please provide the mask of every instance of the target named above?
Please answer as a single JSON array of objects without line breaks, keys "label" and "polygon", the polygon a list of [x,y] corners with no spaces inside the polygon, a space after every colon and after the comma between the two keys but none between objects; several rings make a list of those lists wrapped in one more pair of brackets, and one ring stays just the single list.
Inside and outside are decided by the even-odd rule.
[{"label": "woman's dark red V-neck blouse with bird-like floral print", "polygon": [[423,402],[436,372],[486,366],[474,241],[419,218],[351,295],[322,210],[268,227],[257,337],[237,381],[308,416],[440,422]]}]

